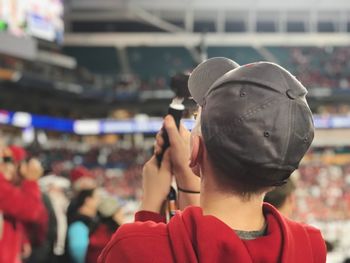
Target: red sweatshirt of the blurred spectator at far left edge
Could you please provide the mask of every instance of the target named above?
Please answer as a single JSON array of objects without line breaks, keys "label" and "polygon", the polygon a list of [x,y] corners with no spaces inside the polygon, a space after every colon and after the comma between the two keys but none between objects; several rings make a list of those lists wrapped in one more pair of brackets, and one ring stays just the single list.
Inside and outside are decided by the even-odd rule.
[{"label": "red sweatshirt of the blurred spectator at far left edge", "polygon": [[47,216],[38,184],[23,181],[15,187],[0,174],[0,212],[4,215],[0,237],[0,263],[18,261],[24,222],[40,223]]}]

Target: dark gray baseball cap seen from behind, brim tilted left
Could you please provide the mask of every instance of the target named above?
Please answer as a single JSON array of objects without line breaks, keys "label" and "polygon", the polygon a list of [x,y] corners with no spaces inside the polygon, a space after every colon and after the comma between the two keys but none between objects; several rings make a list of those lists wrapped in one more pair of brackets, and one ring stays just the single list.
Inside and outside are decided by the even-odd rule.
[{"label": "dark gray baseball cap seen from behind, brim tilted left", "polygon": [[216,63],[222,60],[203,62],[189,78],[189,90],[202,106],[202,135],[209,155],[216,165],[228,166],[227,171],[231,163],[239,163],[242,182],[283,184],[314,137],[306,88],[286,69],[269,62],[220,71],[224,74],[218,72],[214,81],[197,76],[199,71],[221,68]]}]

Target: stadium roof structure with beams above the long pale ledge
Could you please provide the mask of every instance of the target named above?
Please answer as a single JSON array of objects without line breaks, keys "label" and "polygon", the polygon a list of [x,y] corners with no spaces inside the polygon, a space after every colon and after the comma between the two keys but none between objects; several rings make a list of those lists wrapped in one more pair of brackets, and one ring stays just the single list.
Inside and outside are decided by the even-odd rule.
[{"label": "stadium roof structure with beams above the long pale ledge", "polygon": [[71,32],[348,32],[348,0],[71,0]]}]

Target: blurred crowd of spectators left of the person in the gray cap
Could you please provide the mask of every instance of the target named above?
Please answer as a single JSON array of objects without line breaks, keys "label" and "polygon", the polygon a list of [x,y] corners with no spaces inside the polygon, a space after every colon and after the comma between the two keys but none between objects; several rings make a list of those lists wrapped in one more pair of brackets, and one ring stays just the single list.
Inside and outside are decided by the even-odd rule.
[{"label": "blurred crowd of spectators left of the person in the gray cap", "polygon": [[136,199],[141,155],[30,150],[0,147],[0,262],[97,262]]}]

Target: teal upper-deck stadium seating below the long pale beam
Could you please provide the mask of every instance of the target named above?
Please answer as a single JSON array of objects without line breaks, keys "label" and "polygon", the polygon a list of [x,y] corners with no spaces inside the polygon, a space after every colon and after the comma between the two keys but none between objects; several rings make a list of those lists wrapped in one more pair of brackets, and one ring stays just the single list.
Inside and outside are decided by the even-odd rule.
[{"label": "teal upper-deck stadium seating below the long pale beam", "polygon": [[[64,51],[96,74],[117,77],[123,72],[129,73],[128,79],[131,74],[133,86],[139,90],[164,89],[172,75],[197,64],[184,46],[127,47],[123,65],[115,47],[65,47]],[[307,88],[350,87],[348,47],[266,46],[261,52],[253,46],[209,46],[207,55],[228,57],[241,65],[262,60],[277,62]]]}]

